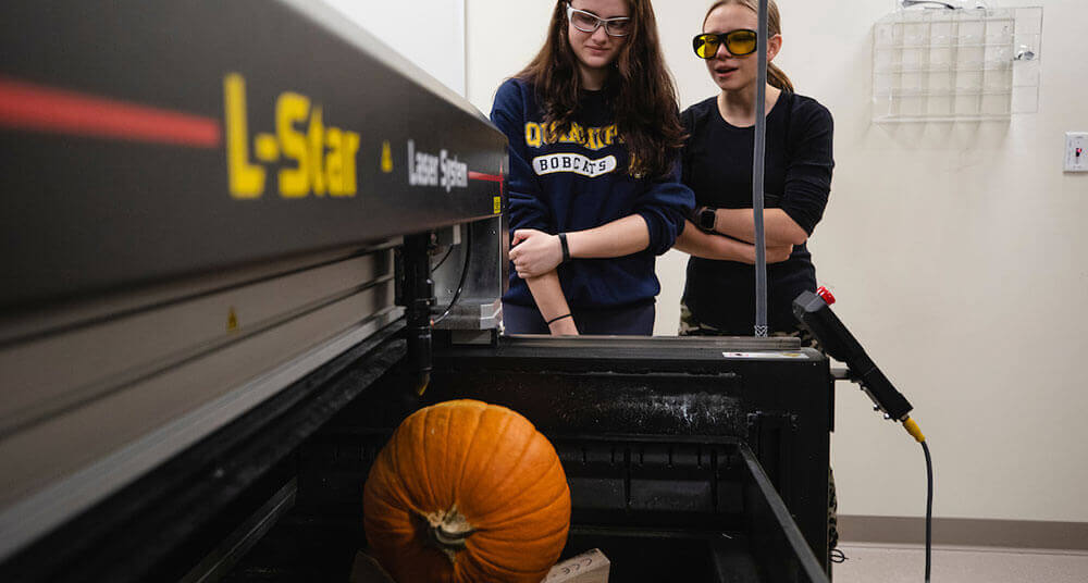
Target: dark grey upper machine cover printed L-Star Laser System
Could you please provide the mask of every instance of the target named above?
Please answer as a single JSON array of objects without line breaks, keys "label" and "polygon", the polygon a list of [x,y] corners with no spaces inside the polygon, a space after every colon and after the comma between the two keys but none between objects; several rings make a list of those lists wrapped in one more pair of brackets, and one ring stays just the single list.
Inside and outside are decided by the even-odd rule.
[{"label": "dark grey upper machine cover printed L-Star Laser System", "polygon": [[8,2],[0,54],[0,309],[500,211],[503,134],[320,2]]}]

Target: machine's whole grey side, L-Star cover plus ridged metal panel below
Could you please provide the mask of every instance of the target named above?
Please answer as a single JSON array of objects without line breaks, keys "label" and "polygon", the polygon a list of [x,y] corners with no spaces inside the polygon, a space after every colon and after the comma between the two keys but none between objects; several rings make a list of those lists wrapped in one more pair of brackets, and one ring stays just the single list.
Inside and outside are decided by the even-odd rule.
[{"label": "machine's whole grey side, L-Star cover plus ridged metal panel below", "polygon": [[320,2],[11,2],[0,54],[0,561],[400,318],[403,235],[498,256],[505,137]]}]

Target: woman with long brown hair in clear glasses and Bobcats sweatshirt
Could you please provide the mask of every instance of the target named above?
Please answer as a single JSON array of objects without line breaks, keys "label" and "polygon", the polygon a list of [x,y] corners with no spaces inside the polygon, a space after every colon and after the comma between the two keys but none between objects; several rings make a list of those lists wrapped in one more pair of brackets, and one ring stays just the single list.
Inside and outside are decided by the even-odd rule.
[{"label": "woman with long brown hair in clear glasses and Bobcats sweatshirt", "polygon": [[491,119],[510,141],[506,332],[652,334],[655,255],[694,197],[650,0],[556,2]]}]

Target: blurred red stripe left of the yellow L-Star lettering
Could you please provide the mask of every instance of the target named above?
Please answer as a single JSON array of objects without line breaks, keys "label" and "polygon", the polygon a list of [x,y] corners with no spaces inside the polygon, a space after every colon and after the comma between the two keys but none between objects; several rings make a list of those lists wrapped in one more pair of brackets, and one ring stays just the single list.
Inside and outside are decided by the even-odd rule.
[{"label": "blurred red stripe left of the yellow L-Star lettering", "polygon": [[0,126],[101,138],[219,147],[219,120],[0,77]]}]

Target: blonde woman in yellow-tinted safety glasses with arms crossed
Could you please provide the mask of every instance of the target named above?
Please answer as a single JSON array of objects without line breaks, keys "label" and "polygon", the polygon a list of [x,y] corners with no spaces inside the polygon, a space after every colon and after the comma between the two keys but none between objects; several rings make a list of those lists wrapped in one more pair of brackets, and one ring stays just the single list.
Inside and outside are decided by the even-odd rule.
[{"label": "blonde woman in yellow-tinted safety glasses with arms crossed", "polygon": [[[781,15],[768,5],[767,146],[764,231],[767,251],[767,323],[771,335],[815,346],[792,312],[793,299],[815,290],[816,268],[805,245],[824,216],[831,188],[832,121],[827,108],[794,92],[770,63],[782,48]],[[715,2],[692,40],[718,94],[681,115],[689,134],[683,182],[696,210],[677,239],[691,253],[680,306],[681,335],[750,336],[755,326],[755,227],[752,166],[758,32],[756,0]],[[838,544],[834,481],[828,473],[828,548]]]}]

